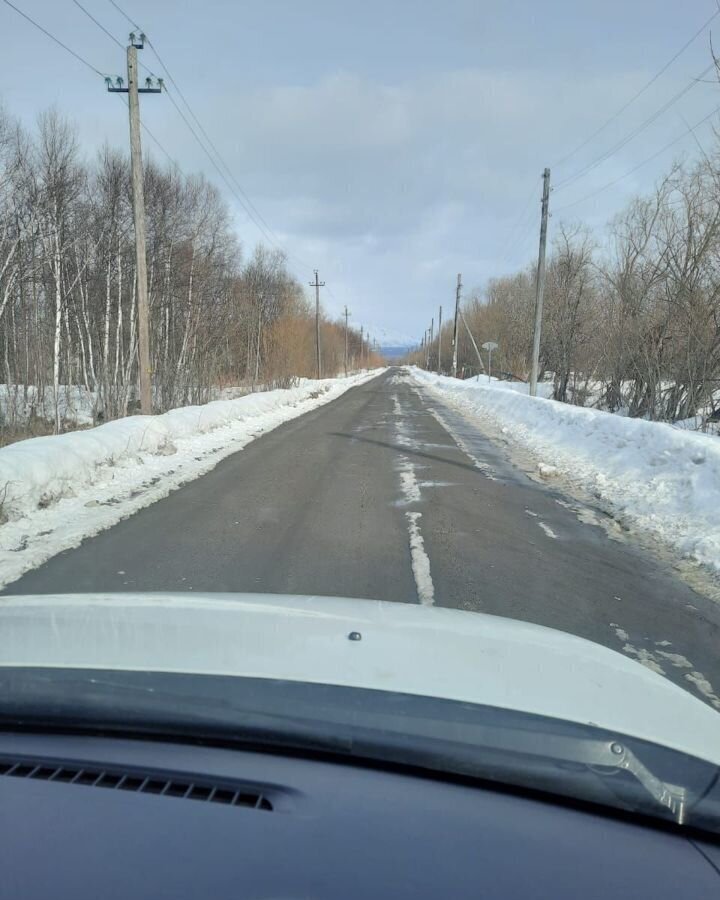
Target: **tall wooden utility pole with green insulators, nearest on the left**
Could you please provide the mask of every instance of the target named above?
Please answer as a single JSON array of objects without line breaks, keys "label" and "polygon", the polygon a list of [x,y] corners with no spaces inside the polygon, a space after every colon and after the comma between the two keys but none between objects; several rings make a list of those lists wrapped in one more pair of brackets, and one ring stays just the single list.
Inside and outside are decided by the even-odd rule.
[{"label": "tall wooden utility pole with green insulators, nearest on the left", "polygon": [[138,375],[140,380],[140,412],[152,413],[152,368],[150,365],[150,304],[147,295],[147,255],[145,252],[145,193],[143,190],[142,148],[140,146],[140,94],[159,94],[163,88],[162,78],[145,79],[145,87],[138,85],[137,52],[145,46],[145,35],[139,37],[131,32],[127,48],[128,86],[118,76],[113,85],[112,78],[105,79],[111,94],[127,94],[130,113],[130,167],[133,190],[133,218],[135,223],[135,277],[138,298]]}]

